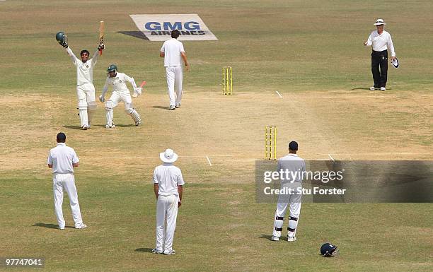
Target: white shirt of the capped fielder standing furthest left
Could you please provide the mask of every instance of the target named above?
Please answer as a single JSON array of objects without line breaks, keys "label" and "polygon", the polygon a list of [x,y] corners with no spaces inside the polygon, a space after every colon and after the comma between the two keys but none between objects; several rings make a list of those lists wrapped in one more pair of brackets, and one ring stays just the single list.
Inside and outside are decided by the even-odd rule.
[{"label": "white shirt of the capped fielder standing furthest left", "polygon": [[47,164],[52,165],[54,174],[74,173],[72,163],[79,162],[74,148],[66,146],[65,143],[57,143],[55,148],[50,150],[48,154]]}]

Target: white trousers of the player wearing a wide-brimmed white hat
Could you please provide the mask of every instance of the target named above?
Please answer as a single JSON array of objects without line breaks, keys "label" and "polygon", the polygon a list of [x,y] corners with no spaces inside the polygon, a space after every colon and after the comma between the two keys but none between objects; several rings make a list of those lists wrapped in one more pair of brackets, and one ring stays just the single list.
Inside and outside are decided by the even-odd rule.
[{"label": "white trousers of the player wearing a wide-brimmed white hat", "polygon": [[156,249],[172,249],[178,217],[178,196],[158,196],[156,202]]}]

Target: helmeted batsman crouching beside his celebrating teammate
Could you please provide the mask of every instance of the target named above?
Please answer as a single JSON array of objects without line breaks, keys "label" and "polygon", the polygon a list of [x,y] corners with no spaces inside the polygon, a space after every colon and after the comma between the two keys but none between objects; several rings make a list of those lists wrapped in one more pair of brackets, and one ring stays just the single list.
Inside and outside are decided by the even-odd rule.
[{"label": "helmeted batsman crouching beside his celebrating teammate", "polygon": [[108,66],[107,71],[108,77],[105,81],[102,95],[99,96],[99,101],[105,102],[105,93],[107,93],[108,85],[112,85],[112,95],[110,99],[105,102],[105,112],[107,114],[107,124],[105,125],[105,128],[109,129],[115,127],[115,124],[112,121],[113,108],[116,107],[120,101],[125,103],[125,112],[134,120],[135,125],[138,126],[142,123],[142,119],[137,110],[132,107],[132,98],[126,83],[129,82],[132,84],[136,95],[142,94],[142,88],[137,87],[134,78],[127,76],[125,73],[118,73],[117,66],[114,64]]}]

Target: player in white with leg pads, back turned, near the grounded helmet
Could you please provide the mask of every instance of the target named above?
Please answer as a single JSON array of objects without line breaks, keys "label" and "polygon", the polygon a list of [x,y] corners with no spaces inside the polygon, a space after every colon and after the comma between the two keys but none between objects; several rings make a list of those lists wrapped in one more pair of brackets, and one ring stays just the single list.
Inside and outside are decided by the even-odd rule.
[{"label": "player in white with leg pads, back turned, near the grounded helmet", "polygon": [[[305,172],[305,161],[296,155],[298,143],[291,141],[289,143],[289,155],[278,160],[278,171],[286,170],[289,173]],[[294,175],[293,175],[294,176]],[[292,176],[292,177],[293,177]],[[284,224],[284,214],[289,206],[290,218],[287,227],[287,241],[296,241],[296,227],[298,226],[299,215],[301,213],[301,194],[296,194],[297,189],[302,188],[302,175],[294,176],[295,179],[282,179],[281,189],[284,187],[291,188],[294,194],[282,195],[278,197],[277,209],[275,210],[274,230],[272,232],[272,241],[278,241],[281,237],[282,227]]]}]

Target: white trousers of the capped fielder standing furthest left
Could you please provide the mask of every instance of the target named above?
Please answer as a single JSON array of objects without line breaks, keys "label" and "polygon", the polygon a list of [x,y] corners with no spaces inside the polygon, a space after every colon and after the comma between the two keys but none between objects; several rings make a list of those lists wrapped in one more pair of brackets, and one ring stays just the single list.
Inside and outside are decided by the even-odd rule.
[{"label": "white trousers of the capped fielder standing furthest left", "polygon": [[76,193],[75,178],[73,174],[54,174],[52,177],[54,191],[54,212],[56,213],[57,223],[59,227],[64,227],[64,218],[62,211],[63,190],[67,191],[69,204],[71,205],[72,218],[74,218],[75,226],[83,223],[81,219],[80,205],[78,202],[78,194]]}]

